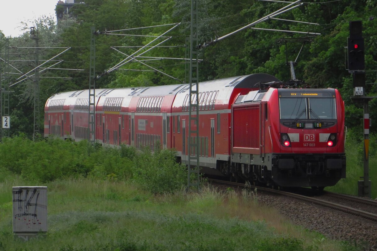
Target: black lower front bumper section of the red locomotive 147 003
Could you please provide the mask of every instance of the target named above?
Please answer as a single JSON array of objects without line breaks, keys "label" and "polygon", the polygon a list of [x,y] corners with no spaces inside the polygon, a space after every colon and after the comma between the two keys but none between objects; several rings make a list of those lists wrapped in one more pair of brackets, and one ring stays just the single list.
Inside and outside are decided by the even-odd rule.
[{"label": "black lower front bumper section of the red locomotive 147 003", "polygon": [[271,178],[279,186],[334,186],[346,176],[341,154],[273,154]]}]

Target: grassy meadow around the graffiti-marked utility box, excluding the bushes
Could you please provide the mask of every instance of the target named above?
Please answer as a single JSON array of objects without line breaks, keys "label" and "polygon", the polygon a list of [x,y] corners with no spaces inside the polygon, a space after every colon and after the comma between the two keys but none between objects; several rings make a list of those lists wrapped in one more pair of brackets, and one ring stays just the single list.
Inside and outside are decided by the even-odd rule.
[{"label": "grassy meadow around the graffiti-marked utility box, excluding the bushes", "polygon": [[[9,177],[7,185],[23,183]],[[12,209],[0,203],[0,250],[357,250],[294,227],[277,210],[204,186],[154,195],[125,181],[68,178],[48,186],[48,234],[12,238]],[[0,196],[11,193],[0,190]],[[6,196],[5,196],[6,197]]]}]

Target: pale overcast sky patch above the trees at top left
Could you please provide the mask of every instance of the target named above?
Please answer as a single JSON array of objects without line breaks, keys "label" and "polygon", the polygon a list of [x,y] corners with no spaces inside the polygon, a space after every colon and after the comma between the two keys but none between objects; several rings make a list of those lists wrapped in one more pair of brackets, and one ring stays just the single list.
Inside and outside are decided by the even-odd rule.
[{"label": "pale overcast sky patch above the trees at top left", "polygon": [[57,3],[58,0],[0,0],[0,30],[6,37],[18,37],[23,33],[21,21],[28,23],[28,27],[34,26],[33,21],[42,15],[52,16],[56,21]]}]

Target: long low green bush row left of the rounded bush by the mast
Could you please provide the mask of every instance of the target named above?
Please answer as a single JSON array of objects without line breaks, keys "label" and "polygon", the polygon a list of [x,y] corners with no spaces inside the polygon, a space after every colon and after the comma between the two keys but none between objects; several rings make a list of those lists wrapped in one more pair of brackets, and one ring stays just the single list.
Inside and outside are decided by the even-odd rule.
[{"label": "long low green bush row left of the rounded bush by the mast", "polygon": [[127,179],[132,176],[130,157],[134,153],[132,148],[119,150],[91,146],[86,140],[5,138],[0,144],[0,158],[3,160],[0,170],[42,182],[88,174],[99,179]]}]

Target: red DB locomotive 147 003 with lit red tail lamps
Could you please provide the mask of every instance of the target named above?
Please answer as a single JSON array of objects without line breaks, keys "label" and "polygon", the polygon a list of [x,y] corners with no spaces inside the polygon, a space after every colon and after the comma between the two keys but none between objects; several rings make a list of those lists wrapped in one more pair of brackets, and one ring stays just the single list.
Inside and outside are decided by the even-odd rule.
[{"label": "red DB locomotive 147 003 with lit red tail lamps", "polygon": [[232,106],[232,125],[239,176],[319,188],[345,178],[344,104],[336,89],[251,91]]}]

